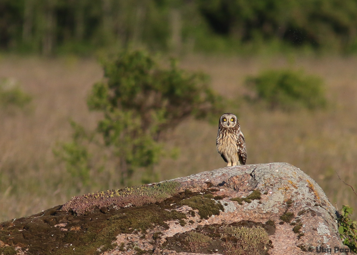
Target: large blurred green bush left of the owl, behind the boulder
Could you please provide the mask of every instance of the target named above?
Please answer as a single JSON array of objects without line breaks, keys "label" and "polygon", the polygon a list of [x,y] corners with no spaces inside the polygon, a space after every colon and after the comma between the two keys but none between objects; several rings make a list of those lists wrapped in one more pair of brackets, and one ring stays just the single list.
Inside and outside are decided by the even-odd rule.
[{"label": "large blurred green bush left of the owl, behind the boulder", "polygon": [[[124,52],[104,64],[104,73],[87,103],[90,110],[103,113],[95,133],[117,160],[122,184],[127,184],[134,170],[150,171],[159,162],[168,130],[190,116],[207,119],[221,113],[220,97],[208,87],[207,76],[184,71],[174,61],[162,68],[145,52]],[[84,129],[79,132],[84,133]],[[73,168],[89,171],[84,140],[75,137],[75,143],[62,146],[66,152],[62,159],[69,172]]]}]

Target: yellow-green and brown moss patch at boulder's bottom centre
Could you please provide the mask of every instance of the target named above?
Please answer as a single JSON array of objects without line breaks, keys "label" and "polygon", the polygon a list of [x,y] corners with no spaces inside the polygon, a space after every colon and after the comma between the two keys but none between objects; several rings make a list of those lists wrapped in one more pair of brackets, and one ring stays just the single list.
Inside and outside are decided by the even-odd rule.
[{"label": "yellow-green and brown moss patch at boulder's bottom centre", "polygon": [[205,254],[268,254],[272,247],[269,233],[274,234],[275,228],[253,221],[205,225],[166,238],[163,247],[176,252]]}]

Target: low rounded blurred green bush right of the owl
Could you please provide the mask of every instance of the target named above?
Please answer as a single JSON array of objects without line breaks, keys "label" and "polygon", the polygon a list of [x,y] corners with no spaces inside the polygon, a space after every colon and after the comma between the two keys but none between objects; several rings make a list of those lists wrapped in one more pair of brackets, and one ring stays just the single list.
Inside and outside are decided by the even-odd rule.
[{"label": "low rounded blurred green bush right of the owl", "polygon": [[248,77],[246,85],[255,93],[250,99],[265,101],[271,109],[315,109],[326,104],[322,79],[301,70],[264,71]]}]

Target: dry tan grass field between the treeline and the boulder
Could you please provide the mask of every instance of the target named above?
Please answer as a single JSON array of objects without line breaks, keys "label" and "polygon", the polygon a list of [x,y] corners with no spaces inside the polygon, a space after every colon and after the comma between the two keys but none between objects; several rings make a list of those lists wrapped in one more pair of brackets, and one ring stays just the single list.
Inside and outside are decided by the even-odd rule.
[{"label": "dry tan grass field between the treeline and the boulder", "polygon": [[[293,164],[313,177],[339,208],[344,204],[357,208],[357,196],[336,174],[357,188],[357,58],[190,56],[181,60],[181,66],[208,73],[216,91],[237,99],[240,107],[226,111],[239,116],[248,164]],[[322,77],[327,109],[269,111],[239,99],[248,92],[246,75],[268,68],[303,68]],[[53,155],[58,141],[71,139],[70,118],[95,127],[99,115],[88,112],[86,96],[102,75],[92,59],[2,56],[0,78],[18,81],[33,100],[24,110],[0,109],[0,222],[62,205],[84,192],[122,188],[108,180],[89,189],[74,189],[70,174]],[[217,126],[188,120],[177,127],[167,147],[179,147],[180,155],[155,167],[157,181],[224,167],[215,148]],[[133,184],[140,184],[137,176]]]}]

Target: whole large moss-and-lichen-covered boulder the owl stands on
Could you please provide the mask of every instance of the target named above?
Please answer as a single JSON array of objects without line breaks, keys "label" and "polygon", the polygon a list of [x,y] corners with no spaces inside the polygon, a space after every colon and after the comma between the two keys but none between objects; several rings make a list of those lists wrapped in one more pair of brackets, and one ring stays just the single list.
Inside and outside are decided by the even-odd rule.
[{"label": "whole large moss-and-lichen-covered boulder the owl stands on", "polygon": [[0,253],[344,254],[336,213],[290,164],[232,166],[0,223]]}]

